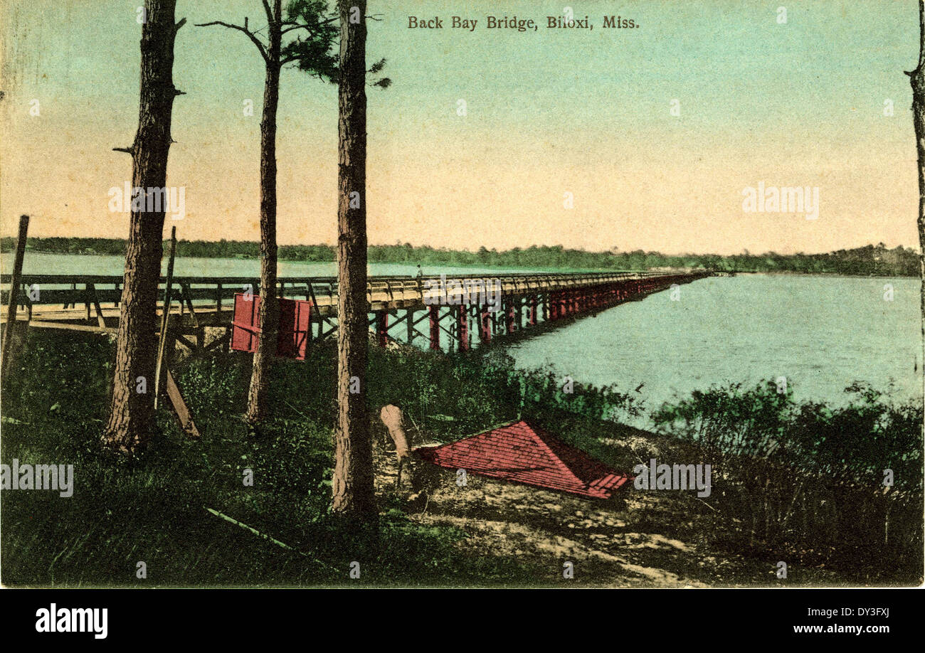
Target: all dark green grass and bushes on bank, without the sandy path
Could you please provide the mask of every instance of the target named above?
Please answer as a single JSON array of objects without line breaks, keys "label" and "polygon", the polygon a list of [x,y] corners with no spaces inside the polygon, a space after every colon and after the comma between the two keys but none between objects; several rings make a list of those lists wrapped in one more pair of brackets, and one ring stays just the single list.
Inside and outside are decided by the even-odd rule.
[{"label": "all dark green grass and bushes on bank, without the sandy path", "polygon": [[[330,513],[333,344],[315,346],[305,362],[277,361],[272,418],[259,437],[240,421],[250,357],[213,351],[188,359],[176,376],[203,437],[183,436],[164,409],[150,445],[130,461],[105,451],[99,439],[113,359],[107,337],[31,329],[3,381],[0,460],[74,465],[70,499],[49,491],[0,493],[6,585],[553,582],[536,559],[496,554],[471,544],[458,528],[412,519],[408,501],[388,491],[378,497],[377,541],[364,541]],[[713,554],[726,550],[760,560],[769,551],[786,550],[787,560],[824,564],[870,584],[920,576],[920,510],[918,525],[900,520],[891,504],[871,495],[870,484],[879,483],[890,467],[897,489],[906,493],[903,505],[920,508],[921,406],[891,407],[870,388],[855,389],[860,398],[837,410],[796,405],[771,387],[710,388],[662,407],[655,414],[660,440],[672,442],[670,450],[693,450],[697,461],[713,461],[718,479],[710,499],[715,527],[675,525],[694,528],[688,537]],[[449,441],[524,413],[555,425],[562,439],[620,470],[648,461],[653,444],[645,432],[617,423],[621,415],[637,413],[619,388],[576,384],[565,394],[551,374],[515,371],[497,348],[450,356],[372,347],[366,391],[374,424],[378,407],[396,403],[430,439]],[[374,434],[384,437],[381,429]],[[773,441],[786,446],[774,456],[762,455]],[[845,468],[845,461],[854,466]],[[245,485],[250,476],[253,485]],[[800,483],[804,478],[813,485]],[[845,479],[862,479],[870,487],[858,494],[857,487],[839,485]],[[677,508],[689,498],[664,499]],[[801,506],[801,520],[789,510],[793,505]],[[883,533],[881,510],[895,529],[888,548],[874,538]],[[648,516],[656,518],[635,514],[635,522],[645,523]],[[657,525],[653,532],[672,527]],[[917,543],[918,553],[912,550]],[[358,579],[350,576],[354,563],[360,566]]]}]

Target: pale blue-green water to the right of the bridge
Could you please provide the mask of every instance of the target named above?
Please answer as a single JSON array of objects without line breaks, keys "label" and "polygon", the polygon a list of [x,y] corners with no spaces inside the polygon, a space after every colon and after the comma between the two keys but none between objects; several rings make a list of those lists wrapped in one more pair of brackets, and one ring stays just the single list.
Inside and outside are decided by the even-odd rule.
[{"label": "pale blue-green water to the right of the bridge", "polygon": [[[884,300],[891,284],[894,300]],[[797,400],[842,402],[859,380],[921,397],[919,280],[710,277],[512,345],[522,368],[618,384],[648,408],[711,384],[785,376]],[[892,388],[892,389],[891,389]]]}]

